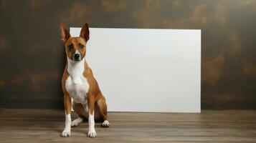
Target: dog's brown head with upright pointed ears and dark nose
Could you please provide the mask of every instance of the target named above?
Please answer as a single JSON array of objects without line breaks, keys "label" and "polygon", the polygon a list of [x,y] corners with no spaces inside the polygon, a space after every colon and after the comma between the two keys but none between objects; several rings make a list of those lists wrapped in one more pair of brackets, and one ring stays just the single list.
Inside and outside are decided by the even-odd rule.
[{"label": "dog's brown head with upright pointed ears and dark nose", "polygon": [[71,61],[81,61],[86,54],[86,43],[89,40],[89,26],[85,24],[82,26],[80,36],[71,37],[70,30],[65,24],[60,24],[60,35],[65,45],[67,58]]}]

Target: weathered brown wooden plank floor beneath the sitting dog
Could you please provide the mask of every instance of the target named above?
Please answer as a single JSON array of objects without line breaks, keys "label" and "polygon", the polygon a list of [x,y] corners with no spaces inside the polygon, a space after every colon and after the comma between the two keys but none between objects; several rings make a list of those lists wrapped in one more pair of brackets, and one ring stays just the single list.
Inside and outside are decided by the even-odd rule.
[{"label": "weathered brown wooden plank floor beneath the sitting dog", "polygon": [[87,122],[64,138],[63,111],[0,109],[0,142],[256,142],[255,111],[110,112],[109,117],[109,128],[96,123],[95,139],[86,135]]}]

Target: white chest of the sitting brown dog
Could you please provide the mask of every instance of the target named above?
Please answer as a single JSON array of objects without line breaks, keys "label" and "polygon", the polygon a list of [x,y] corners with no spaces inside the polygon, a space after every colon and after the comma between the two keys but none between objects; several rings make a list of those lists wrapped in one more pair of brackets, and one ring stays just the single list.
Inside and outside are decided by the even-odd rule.
[{"label": "white chest of the sitting brown dog", "polygon": [[89,84],[87,79],[83,76],[85,69],[84,61],[82,61],[75,64],[71,64],[70,61],[68,61],[67,71],[70,76],[67,77],[65,87],[70,97],[72,97],[75,102],[84,104],[87,100]]}]

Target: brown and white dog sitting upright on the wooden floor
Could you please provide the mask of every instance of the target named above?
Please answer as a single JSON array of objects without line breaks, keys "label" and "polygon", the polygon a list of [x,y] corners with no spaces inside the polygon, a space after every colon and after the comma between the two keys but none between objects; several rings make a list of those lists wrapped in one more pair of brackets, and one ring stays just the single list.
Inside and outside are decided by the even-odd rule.
[{"label": "brown and white dog sitting upright on the wooden floor", "polygon": [[[107,104],[100,92],[98,83],[93,77],[93,71],[85,61],[86,43],[89,40],[88,24],[82,26],[79,37],[71,37],[65,24],[60,24],[60,34],[67,55],[67,64],[62,76],[62,91],[65,105],[65,129],[61,136],[69,137],[71,127],[77,126],[88,119],[88,137],[96,137],[95,120],[102,121],[103,127],[109,127]],[[71,103],[71,98],[74,100]],[[71,122],[71,108],[78,118]]]}]

